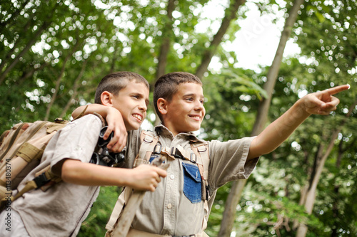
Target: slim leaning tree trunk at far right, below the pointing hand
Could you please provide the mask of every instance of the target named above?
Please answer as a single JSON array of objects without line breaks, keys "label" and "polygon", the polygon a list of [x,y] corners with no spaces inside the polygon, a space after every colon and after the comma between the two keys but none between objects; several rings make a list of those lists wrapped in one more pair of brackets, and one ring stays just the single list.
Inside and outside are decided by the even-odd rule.
[{"label": "slim leaning tree trunk at far right, below the pointing hand", "polygon": [[[311,183],[311,186],[308,189],[308,194],[306,195],[306,202],[304,204],[306,212],[308,214],[311,214],[312,210],[313,210],[313,204],[315,203],[315,199],[316,199],[316,188],[317,188],[318,180],[321,177],[322,169],[325,165],[326,159],[332,151],[332,148],[335,143],[335,139],[338,137],[338,133],[341,131],[341,127],[343,127],[343,125],[346,123],[346,120],[348,119],[348,117],[351,116],[351,113],[352,113],[354,107],[356,106],[356,104],[357,104],[357,100],[354,102],[353,105],[351,105],[345,119],[341,121],[341,125],[339,125],[338,128],[332,133],[331,140],[328,143],[326,152],[325,152],[325,154],[323,154],[323,156],[320,159],[320,162],[318,163],[318,167],[316,169],[316,174],[313,176],[313,181]],[[305,224],[301,223],[298,226],[298,231],[296,233],[296,237],[305,237],[307,231],[308,231],[308,227]]]}]

